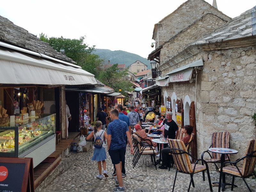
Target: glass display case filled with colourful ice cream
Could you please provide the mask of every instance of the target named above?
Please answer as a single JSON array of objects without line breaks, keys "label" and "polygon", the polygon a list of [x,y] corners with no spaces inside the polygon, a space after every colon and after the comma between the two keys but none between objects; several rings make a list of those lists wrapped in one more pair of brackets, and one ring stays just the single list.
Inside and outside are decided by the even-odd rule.
[{"label": "glass display case filled with colourful ice cream", "polygon": [[40,117],[16,120],[14,127],[0,127],[0,156],[24,157],[47,139],[55,138],[55,114],[41,114]]}]

